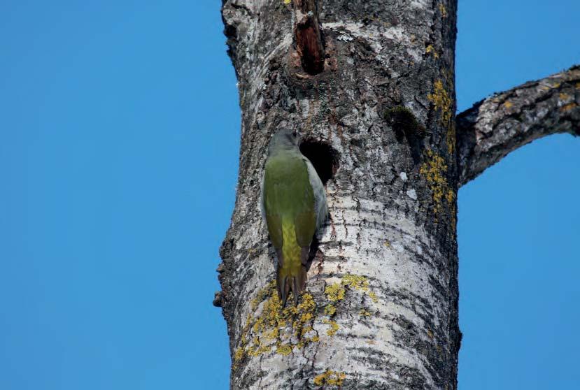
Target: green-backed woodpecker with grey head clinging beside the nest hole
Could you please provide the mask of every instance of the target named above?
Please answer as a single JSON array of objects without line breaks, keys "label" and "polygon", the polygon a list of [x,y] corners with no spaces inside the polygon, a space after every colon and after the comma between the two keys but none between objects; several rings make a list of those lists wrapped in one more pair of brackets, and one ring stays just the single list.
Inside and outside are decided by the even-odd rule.
[{"label": "green-backed woodpecker with grey head clinging beside the nest hole", "polygon": [[262,187],[264,217],[278,255],[276,282],[283,305],[290,290],[296,303],[304,290],[310,245],[327,213],[322,182],[297,143],[297,136],[289,131],[274,135]]}]

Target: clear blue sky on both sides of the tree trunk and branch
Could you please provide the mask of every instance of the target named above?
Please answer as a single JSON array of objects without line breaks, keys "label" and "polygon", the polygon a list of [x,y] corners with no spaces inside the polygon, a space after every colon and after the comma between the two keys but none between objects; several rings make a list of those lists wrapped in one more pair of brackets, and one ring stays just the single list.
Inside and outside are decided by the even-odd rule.
[{"label": "clear blue sky on both sides of the tree trunk and branch", "polygon": [[[580,62],[580,3],[460,0],[458,106]],[[220,1],[0,0],[0,389],[216,389],[239,107]],[[580,138],[460,191],[460,389],[577,389]]]}]

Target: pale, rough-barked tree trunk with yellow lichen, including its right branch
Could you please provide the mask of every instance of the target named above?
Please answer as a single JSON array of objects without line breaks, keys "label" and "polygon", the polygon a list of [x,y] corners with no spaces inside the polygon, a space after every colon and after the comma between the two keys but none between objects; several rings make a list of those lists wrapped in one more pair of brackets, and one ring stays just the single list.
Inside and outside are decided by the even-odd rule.
[{"label": "pale, rough-barked tree trunk with yellow lichen, including its right branch", "polygon": [[[455,120],[456,0],[224,0],[241,152],[220,249],[231,389],[456,389],[458,186],[578,131],[580,68]],[[304,137],[330,219],[281,309],[260,217],[269,136]],[[459,129],[456,136],[456,128]]]}]

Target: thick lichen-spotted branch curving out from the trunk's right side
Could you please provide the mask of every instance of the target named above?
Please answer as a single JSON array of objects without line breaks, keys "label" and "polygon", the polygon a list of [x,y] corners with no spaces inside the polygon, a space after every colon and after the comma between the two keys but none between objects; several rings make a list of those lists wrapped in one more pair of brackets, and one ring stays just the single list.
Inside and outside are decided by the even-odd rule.
[{"label": "thick lichen-spotted branch curving out from the trunk's right side", "polygon": [[580,66],[490,96],[458,115],[459,184],[555,133],[580,136]]}]

